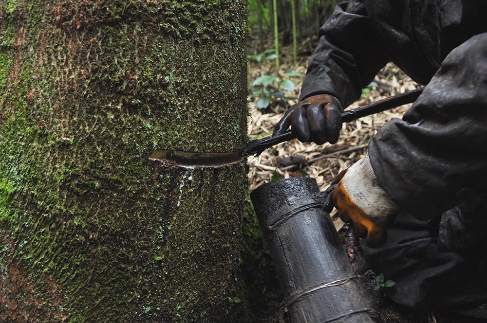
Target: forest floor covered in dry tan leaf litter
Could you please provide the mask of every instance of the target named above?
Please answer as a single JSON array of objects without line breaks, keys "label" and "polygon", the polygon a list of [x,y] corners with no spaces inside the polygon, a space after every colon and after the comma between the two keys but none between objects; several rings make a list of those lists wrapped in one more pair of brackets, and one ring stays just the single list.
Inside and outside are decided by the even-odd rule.
[{"label": "forest floor covered in dry tan leaf litter", "polygon": [[[292,63],[292,48],[290,46],[281,49],[281,67],[279,69],[281,80],[289,78],[285,73],[290,70],[302,74],[306,73],[307,58],[314,47],[313,42],[316,42],[316,39],[308,41],[308,44],[301,46],[305,50],[299,56],[297,64]],[[252,84],[254,80],[263,75],[276,76],[275,61],[263,60],[261,63],[250,61],[248,71],[249,84]],[[269,90],[282,91],[286,97],[289,97],[284,100],[285,106],[271,101],[268,108],[258,109],[256,108],[256,103],[259,97],[252,97],[249,94],[250,117],[248,118],[248,135],[250,139],[257,139],[272,134],[274,126],[281,119],[285,110],[297,102],[302,77],[290,79],[295,83],[293,91],[280,89],[279,86],[274,88],[272,85],[268,86]],[[362,106],[419,87],[409,76],[391,63],[378,73],[372,85],[368,90],[363,91],[361,98],[352,104],[350,108]],[[255,90],[259,90],[259,87],[249,86],[249,93]],[[325,190],[340,171],[365,156],[369,140],[381,126],[392,118],[401,118],[410,106],[394,108],[373,116],[361,118],[355,122],[343,124],[340,138],[333,145],[328,143],[323,145],[300,143],[298,140],[293,140],[267,149],[258,157],[249,158],[250,172],[248,176],[250,189],[254,190],[260,185],[276,179],[310,176],[317,180],[321,191]],[[295,157],[298,162],[293,163],[290,157]],[[347,225],[338,218],[336,210],[331,216],[337,231],[344,233]],[[379,314],[382,322],[451,322],[443,321],[442,313],[435,312],[436,318],[432,313],[420,316],[407,312],[400,313],[393,305],[388,305],[383,303],[383,301],[380,302],[382,302],[382,306],[379,309]],[[286,309],[282,306],[275,316],[271,318],[270,322],[287,322],[285,312]]]}]

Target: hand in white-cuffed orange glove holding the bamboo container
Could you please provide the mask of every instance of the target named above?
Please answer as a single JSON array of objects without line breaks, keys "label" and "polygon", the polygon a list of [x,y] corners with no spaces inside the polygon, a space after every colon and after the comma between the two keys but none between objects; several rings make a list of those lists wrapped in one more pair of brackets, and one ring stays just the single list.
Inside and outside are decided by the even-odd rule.
[{"label": "hand in white-cuffed orange glove holding the bamboo container", "polygon": [[387,238],[386,231],[399,207],[379,186],[369,155],[344,170],[334,179],[333,204],[344,222],[354,222],[359,237],[375,248]]}]

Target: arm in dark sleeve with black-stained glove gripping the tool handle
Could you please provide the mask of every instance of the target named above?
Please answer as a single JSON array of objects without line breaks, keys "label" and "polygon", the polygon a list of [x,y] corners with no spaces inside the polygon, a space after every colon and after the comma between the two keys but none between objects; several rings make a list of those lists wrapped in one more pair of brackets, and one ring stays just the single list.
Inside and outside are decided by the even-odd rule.
[{"label": "arm in dark sleeve with black-stained glove gripping the tool handle", "polygon": [[365,5],[358,0],[338,4],[319,31],[300,102],[286,111],[274,135],[292,126],[302,142],[337,142],[341,111],[360,97],[362,88],[387,63],[386,53]]}]

